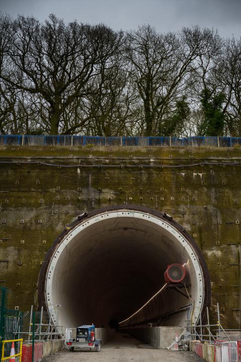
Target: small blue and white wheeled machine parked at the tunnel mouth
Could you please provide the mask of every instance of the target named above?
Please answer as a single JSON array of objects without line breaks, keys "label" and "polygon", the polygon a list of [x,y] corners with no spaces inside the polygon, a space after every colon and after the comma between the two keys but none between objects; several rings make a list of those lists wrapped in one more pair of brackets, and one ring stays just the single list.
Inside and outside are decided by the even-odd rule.
[{"label": "small blue and white wheeled machine parked at the tunnel mouth", "polygon": [[[76,332],[76,336],[74,335]],[[65,347],[69,351],[74,350],[95,350],[101,349],[101,340],[95,338],[95,326],[82,325],[77,328],[66,328]]]}]

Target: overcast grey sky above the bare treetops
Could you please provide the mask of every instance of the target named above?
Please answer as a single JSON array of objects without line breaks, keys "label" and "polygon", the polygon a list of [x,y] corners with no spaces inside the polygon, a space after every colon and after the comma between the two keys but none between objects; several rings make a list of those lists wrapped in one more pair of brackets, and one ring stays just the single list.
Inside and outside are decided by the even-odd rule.
[{"label": "overcast grey sky above the bare treetops", "polygon": [[40,21],[54,13],[65,22],[105,23],[116,30],[144,23],[158,32],[200,25],[217,28],[223,37],[241,36],[241,0],[0,0],[0,10]]}]

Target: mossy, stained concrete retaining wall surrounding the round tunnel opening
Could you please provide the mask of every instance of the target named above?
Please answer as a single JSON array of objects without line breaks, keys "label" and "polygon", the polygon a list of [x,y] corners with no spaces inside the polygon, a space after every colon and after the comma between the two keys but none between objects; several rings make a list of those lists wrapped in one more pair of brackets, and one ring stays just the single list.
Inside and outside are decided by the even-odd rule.
[{"label": "mossy, stained concrete retaining wall surrounding the round tunnel opening", "polygon": [[[84,211],[127,202],[165,211],[186,227],[209,268],[212,320],[218,302],[222,324],[237,327],[241,167],[205,162],[239,162],[239,149],[2,146],[0,151],[2,161],[46,157],[46,163],[76,166],[0,165],[0,259],[6,260],[0,263],[1,280],[11,291],[11,308],[28,310],[36,303],[41,261],[65,225]],[[185,167],[195,159],[204,164]],[[91,167],[96,164],[103,167]]]}]

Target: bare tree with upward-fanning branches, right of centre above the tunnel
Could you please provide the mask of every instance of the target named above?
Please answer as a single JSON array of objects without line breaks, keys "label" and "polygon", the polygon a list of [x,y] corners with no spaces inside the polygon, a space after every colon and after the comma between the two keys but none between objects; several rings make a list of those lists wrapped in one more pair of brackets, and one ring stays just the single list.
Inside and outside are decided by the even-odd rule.
[{"label": "bare tree with upward-fanning branches, right of centre above the tunnel", "polygon": [[127,58],[145,114],[145,135],[162,135],[177,101],[189,86],[203,33],[198,27],[180,34],[157,34],[149,25],[127,35]]}]

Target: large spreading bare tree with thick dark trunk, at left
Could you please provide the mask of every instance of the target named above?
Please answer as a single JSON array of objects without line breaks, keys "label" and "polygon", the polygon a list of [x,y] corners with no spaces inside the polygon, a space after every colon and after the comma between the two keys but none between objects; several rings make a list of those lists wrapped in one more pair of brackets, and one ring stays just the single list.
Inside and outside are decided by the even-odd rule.
[{"label": "large spreading bare tree with thick dark trunk, at left", "polygon": [[44,25],[19,16],[13,29],[8,51],[12,64],[2,77],[18,89],[41,95],[48,105],[46,131],[57,134],[64,110],[89,93],[88,83],[103,56],[100,47],[110,51],[106,27],[77,22],[65,26],[50,15]]}]

